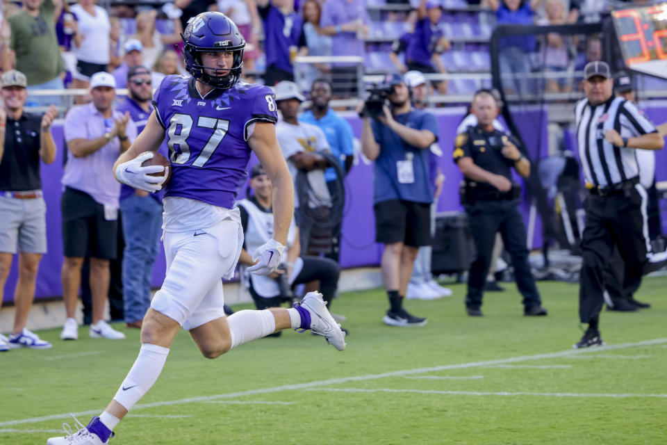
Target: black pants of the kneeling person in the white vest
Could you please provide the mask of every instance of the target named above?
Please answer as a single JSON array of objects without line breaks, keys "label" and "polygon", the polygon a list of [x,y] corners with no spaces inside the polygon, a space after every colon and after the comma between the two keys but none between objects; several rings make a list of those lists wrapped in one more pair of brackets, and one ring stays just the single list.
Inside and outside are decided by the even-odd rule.
[{"label": "black pants of the kneeling person in the white vest", "polygon": [[[304,268],[297,275],[292,287],[311,281],[319,281],[322,298],[327,302],[327,307],[331,309],[331,300],[334,299],[334,294],[338,289],[338,277],[340,276],[338,263],[332,259],[320,257],[304,257],[303,259]],[[259,295],[252,287],[252,280],[250,280],[249,291],[257,309],[279,307],[285,301],[282,296],[266,298]]]}]

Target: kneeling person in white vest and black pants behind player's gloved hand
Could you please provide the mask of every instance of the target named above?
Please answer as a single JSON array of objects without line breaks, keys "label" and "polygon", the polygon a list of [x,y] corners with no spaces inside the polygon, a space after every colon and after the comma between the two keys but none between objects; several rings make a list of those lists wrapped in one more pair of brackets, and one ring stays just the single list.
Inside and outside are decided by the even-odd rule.
[{"label": "kneeling person in white vest and black pants behind player's gloved hand", "polygon": [[[271,179],[261,164],[254,165],[250,172],[250,188],[254,194],[236,204],[241,214],[244,234],[239,264],[245,266],[255,264],[248,252],[253,252],[273,235],[273,190]],[[285,261],[270,275],[245,274],[257,309],[280,307],[284,301],[291,300],[290,294],[295,286],[317,281],[320,283],[322,298],[331,310],[331,302],[338,288],[340,267],[331,259],[301,256],[301,253],[299,227],[292,220],[286,249],[281,256]],[[345,333],[347,334],[347,331]],[[279,334],[280,332],[276,332],[272,337],[278,337]]]}]

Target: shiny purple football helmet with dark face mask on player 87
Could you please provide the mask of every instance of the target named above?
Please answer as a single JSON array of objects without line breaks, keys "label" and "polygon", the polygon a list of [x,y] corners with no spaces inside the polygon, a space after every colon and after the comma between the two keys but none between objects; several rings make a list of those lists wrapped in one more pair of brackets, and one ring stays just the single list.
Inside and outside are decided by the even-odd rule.
[{"label": "shiny purple football helmet with dark face mask on player 87", "polygon": [[[190,19],[181,37],[186,70],[192,77],[223,90],[236,85],[243,67],[245,40],[229,17],[222,13],[201,13]],[[222,70],[204,66],[201,54],[209,52],[233,53],[231,67]]]}]

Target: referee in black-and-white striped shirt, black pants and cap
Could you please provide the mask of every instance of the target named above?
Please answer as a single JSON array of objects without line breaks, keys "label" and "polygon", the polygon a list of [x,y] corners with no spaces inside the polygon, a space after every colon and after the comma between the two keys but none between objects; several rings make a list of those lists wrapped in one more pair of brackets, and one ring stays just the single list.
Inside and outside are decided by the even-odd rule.
[{"label": "referee in black-and-white striped shirt, black pants and cap", "polygon": [[646,191],[639,183],[634,149],[661,149],[664,140],[652,122],[623,97],[614,96],[609,65],[584,67],[586,99],[577,103],[577,143],[590,195],[584,204],[583,265],[579,281],[579,318],[588,323],[575,348],[600,346],[598,323],[604,303],[603,271],[614,245],[625,260],[623,287],[641,284],[650,250],[646,227]]}]

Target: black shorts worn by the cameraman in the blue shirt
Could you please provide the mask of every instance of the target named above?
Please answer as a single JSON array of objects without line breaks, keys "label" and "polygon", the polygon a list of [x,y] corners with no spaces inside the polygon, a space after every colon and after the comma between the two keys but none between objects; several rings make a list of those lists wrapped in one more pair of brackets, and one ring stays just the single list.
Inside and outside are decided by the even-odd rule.
[{"label": "black shorts worn by the cameraman in the blue shirt", "polygon": [[373,210],[377,243],[431,245],[431,204],[390,200],[378,202]]}]

